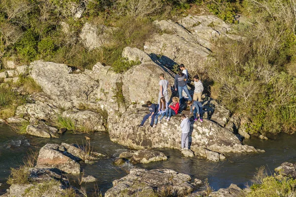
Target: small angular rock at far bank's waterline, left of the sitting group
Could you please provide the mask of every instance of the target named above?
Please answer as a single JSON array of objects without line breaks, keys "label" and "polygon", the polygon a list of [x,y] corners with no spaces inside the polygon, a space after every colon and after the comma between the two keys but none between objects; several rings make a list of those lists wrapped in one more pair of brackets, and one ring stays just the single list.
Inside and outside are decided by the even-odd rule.
[{"label": "small angular rock at far bank's waterline, left of the sitting group", "polygon": [[50,127],[45,124],[39,124],[39,125],[28,125],[27,126],[27,134],[35,135],[38,137],[45,137],[45,138],[51,138],[51,137],[59,137],[58,130],[54,127]]}]

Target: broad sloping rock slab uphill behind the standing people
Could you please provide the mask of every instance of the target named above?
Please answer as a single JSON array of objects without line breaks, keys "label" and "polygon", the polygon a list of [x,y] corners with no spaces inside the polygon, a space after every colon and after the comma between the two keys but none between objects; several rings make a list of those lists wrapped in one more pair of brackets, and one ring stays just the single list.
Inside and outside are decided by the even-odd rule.
[{"label": "broad sloping rock slab uphill behind the standing people", "polygon": [[154,34],[146,41],[145,52],[163,65],[184,64],[189,72],[205,71],[205,63],[214,48],[215,39],[219,37],[240,39],[239,36],[229,33],[231,32],[229,24],[213,15],[188,15],[177,23],[162,20],[154,21],[154,24],[166,33]]}]

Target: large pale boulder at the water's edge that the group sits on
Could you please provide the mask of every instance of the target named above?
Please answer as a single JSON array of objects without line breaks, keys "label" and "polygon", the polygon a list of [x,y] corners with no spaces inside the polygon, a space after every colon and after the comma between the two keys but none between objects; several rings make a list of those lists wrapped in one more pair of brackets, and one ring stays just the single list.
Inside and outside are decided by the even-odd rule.
[{"label": "large pale boulder at the water's edge that the group sits on", "polygon": [[[145,123],[143,128],[137,127],[147,113],[143,109],[129,110],[123,113],[116,123],[109,123],[111,140],[134,149],[179,149],[181,146],[180,116],[173,116],[170,122],[163,120],[162,124],[158,124],[156,128],[149,127],[148,123]],[[253,146],[242,145],[233,132],[207,119],[204,119],[203,123],[193,124],[192,122],[189,135],[190,149],[202,157],[207,157],[208,151],[217,154],[261,152]]]}]

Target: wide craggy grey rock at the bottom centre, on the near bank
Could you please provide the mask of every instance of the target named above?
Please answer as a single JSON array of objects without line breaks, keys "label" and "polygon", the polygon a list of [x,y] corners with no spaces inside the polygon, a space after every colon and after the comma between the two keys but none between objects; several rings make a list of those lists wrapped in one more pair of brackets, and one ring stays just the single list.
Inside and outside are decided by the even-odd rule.
[{"label": "wide craggy grey rock at the bottom centre, on the near bank", "polygon": [[138,193],[151,195],[154,192],[185,196],[193,191],[191,177],[171,169],[131,169],[129,175],[113,181],[105,197],[129,197]]}]

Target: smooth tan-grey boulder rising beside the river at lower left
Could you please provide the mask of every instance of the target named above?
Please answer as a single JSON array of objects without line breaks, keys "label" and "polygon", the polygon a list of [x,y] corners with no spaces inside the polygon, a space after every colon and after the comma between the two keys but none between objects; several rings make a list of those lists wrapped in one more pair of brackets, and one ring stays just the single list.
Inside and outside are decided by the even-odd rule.
[{"label": "smooth tan-grey boulder rising beside the river at lower left", "polygon": [[64,155],[65,151],[66,149],[58,144],[44,145],[39,151],[36,166],[41,168],[57,168],[70,174],[80,173],[80,164]]}]

